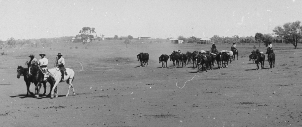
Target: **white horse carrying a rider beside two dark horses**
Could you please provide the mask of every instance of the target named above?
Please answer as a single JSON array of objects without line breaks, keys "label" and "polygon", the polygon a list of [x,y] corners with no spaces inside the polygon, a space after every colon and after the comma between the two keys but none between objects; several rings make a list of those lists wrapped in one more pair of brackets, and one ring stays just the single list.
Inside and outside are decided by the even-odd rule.
[{"label": "white horse carrying a rider beside two dark horses", "polygon": [[[55,81],[55,84],[53,85],[53,89],[51,90],[51,97],[50,98],[52,99],[54,97],[55,93],[56,93],[56,98],[58,98],[58,91],[56,91],[55,88],[59,84],[59,82],[61,81],[61,78],[62,78],[61,71],[59,71],[59,68],[55,67],[55,68],[52,68],[52,69],[48,69],[48,72],[49,72],[50,76]],[[69,95],[70,87],[72,88],[73,95],[76,95],[75,89],[73,88],[73,85],[72,85],[72,81],[74,79],[75,72],[70,68],[66,68],[66,73],[67,73],[67,75],[64,76],[64,82],[66,81],[66,83],[69,84],[69,88],[68,88],[68,92],[66,94],[66,97],[68,97],[68,95]]]}]

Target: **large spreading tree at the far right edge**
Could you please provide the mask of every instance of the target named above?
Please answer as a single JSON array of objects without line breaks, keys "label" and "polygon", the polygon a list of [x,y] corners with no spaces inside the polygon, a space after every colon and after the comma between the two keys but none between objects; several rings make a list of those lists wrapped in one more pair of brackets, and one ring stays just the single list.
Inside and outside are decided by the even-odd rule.
[{"label": "large spreading tree at the far right edge", "polygon": [[286,39],[294,45],[294,49],[297,48],[298,40],[302,39],[302,26],[300,26],[301,21],[296,21],[292,23],[285,23],[283,28],[281,26],[276,26],[273,32],[275,32],[278,37]]}]

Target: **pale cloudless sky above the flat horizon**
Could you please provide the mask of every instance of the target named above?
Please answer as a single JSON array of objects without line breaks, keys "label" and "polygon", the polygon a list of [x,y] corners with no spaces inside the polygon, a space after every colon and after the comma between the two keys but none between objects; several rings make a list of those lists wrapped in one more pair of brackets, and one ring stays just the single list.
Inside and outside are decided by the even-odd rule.
[{"label": "pale cloudless sky above the flat horizon", "polygon": [[[0,1],[0,39],[255,36],[302,21],[302,1]],[[302,25],[302,24],[301,24]]]}]

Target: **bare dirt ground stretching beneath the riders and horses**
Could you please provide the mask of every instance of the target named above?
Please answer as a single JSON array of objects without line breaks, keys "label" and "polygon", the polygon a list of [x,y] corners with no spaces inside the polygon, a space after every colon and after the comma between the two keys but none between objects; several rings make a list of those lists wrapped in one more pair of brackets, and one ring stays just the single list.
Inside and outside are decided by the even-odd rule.
[{"label": "bare dirt ground stretching beneath the riders and horses", "polygon": [[[219,51],[231,47],[216,45]],[[126,48],[123,42],[93,42],[84,47],[65,42],[46,48],[2,49],[0,126],[302,126],[302,51],[291,44],[273,44],[273,69],[265,61],[264,70],[255,70],[249,61],[252,50],[266,51],[263,44],[256,49],[253,44],[237,44],[238,60],[228,68],[216,69],[216,64],[204,73],[197,73],[192,64],[172,67],[171,61],[168,68],[161,68],[158,57],[178,49],[183,53],[210,50],[211,45],[132,43]],[[76,96],[71,91],[66,98],[68,85],[59,83],[59,98],[25,97],[23,77],[17,79],[18,65],[24,66],[29,54],[40,59],[38,54],[45,53],[52,68],[59,52],[65,67],[76,73]],[[149,53],[147,67],[139,67],[139,52]],[[34,92],[33,84],[30,90]]]}]

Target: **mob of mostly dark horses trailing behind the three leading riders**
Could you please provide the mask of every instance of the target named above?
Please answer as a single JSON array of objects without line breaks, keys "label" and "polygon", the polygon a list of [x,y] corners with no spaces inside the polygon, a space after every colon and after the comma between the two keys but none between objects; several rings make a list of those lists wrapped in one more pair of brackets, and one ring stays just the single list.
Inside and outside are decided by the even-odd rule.
[{"label": "mob of mostly dark horses trailing behind the three leading riders", "polygon": [[[268,54],[268,62],[270,64],[270,68],[275,67],[275,54],[273,50],[268,50],[266,54]],[[173,66],[175,66],[175,61],[177,66],[179,66],[181,62],[182,67],[184,67],[184,65],[186,66],[186,64],[193,63],[193,68],[197,67],[198,72],[201,68],[201,72],[203,72],[204,70],[212,70],[216,62],[218,69],[221,68],[221,63],[222,67],[223,65],[224,67],[228,67],[229,60],[230,63],[232,63],[232,60],[235,60],[236,58],[235,55],[237,56],[238,60],[238,50],[236,48],[231,48],[231,51],[223,50],[220,52],[218,52],[217,49],[211,48],[210,51],[201,50],[193,51],[192,53],[188,51],[186,54],[180,54],[177,51],[173,51],[171,55],[162,54],[159,57],[159,63],[162,62],[162,67],[165,67],[166,63],[166,67],[168,67],[167,62],[170,58],[170,61],[173,61]],[[146,67],[149,63],[149,54],[142,52],[137,55],[137,59],[137,61],[140,61],[140,67]],[[259,63],[261,63],[261,69],[264,68],[265,55],[263,54],[263,52],[252,51],[252,54],[250,54],[249,56],[249,60],[253,60],[253,63],[255,60],[257,70],[259,69]]]}]

